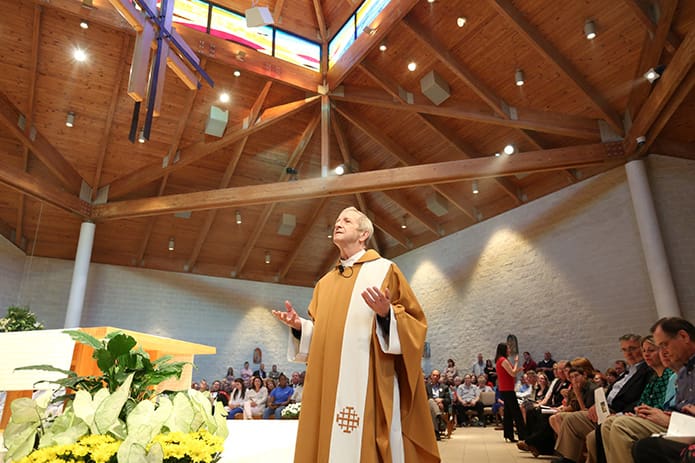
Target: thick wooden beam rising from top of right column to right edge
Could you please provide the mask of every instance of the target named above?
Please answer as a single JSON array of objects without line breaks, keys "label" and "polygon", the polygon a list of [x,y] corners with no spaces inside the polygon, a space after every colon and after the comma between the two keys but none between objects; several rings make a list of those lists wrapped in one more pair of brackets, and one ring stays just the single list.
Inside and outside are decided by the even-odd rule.
[{"label": "thick wooden beam rising from top of right column to right edge", "polygon": [[[635,117],[632,126],[625,138],[625,152],[628,154],[639,150],[636,138],[647,135],[652,124],[656,121],[661,111],[669,103],[669,100],[686,78],[695,62],[695,27],[691,28],[681,42],[678,50],[673,54],[671,62],[664,69],[661,77],[654,82],[651,94],[644,102],[639,114]],[[654,140],[647,140],[653,143]],[[642,154],[640,151],[637,154]]]}]

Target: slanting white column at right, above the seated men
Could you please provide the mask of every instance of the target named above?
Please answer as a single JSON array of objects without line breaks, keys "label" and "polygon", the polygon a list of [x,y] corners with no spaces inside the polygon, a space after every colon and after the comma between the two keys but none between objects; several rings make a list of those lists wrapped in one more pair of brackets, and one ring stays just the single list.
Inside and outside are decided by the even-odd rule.
[{"label": "slanting white column at right, above the seated men", "polygon": [[647,262],[647,273],[654,293],[656,313],[659,318],[681,317],[644,161],[628,162],[625,171],[642,240],[642,251]]}]

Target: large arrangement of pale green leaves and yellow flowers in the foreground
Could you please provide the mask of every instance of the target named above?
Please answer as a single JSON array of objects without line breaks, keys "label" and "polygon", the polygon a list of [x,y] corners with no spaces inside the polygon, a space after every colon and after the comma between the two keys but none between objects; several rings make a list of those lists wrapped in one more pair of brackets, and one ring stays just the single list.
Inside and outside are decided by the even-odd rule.
[{"label": "large arrangement of pale green leaves and yellow flowers in the foreground", "polygon": [[50,394],[20,398],[10,405],[5,429],[5,461],[10,463],[214,463],[227,437],[221,403],[187,390],[155,392],[154,386],[179,377],[184,363],[161,358],[150,362],[136,341],[124,333],[98,340],[67,331],[94,349],[102,376],[78,376],[50,365],[22,369],[60,371],[55,382],[72,391],[62,414],[49,412]]}]

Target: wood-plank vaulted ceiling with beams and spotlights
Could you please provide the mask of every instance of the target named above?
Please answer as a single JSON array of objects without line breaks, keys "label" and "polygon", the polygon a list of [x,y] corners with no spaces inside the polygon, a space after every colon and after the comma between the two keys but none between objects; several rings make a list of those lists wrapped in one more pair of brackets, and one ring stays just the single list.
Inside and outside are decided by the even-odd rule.
[{"label": "wood-plank vaulted ceiling with beams and spotlights", "polygon": [[[258,5],[325,44],[358,2]],[[189,90],[168,69],[144,144],[128,140],[135,31],[111,3],[0,6],[0,232],[27,255],[73,259],[91,220],[93,262],[310,286],[337,257],[327,235],[349,205],[394,257],[648,152],[695,159],[689,0],[394,0],[318,73],[178,27],[215,86]],[[420,89],[432,70],[450,86],[438,106]],[[204,133],[213,104],[229,110],[221,138]],[[495,157],[508,143],[518,153]],[[351,173],[322,175],[343,163]]]}]

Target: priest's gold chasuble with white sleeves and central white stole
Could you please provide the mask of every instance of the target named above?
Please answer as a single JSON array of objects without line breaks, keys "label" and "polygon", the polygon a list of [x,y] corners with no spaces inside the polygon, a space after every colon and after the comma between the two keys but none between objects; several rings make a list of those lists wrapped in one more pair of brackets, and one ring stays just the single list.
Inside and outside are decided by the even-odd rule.
[{"label": "priest's gold chasuble with white sleeves and central white stole", "polygon": [[[309,304],[313,323],[302,320],[299,341],[290,336],[290,360],[307,361],[295,463],[439,462],[420,366],[427,332],[420,304],[398,267],[376,251],[342,270],[336,267],[321,278]],[[379,334],[376,314],[360,304],[366,286],[391,292],[387,337]],[[357,332],[358,326],[365,328]],[[351,364],[361,356],[363,362]],[[341,392],[337,400],[337,391],[353,397]],[[354,406],[343,405],[355,396]],[[355,437],[359,440],[349,444]]]}]

